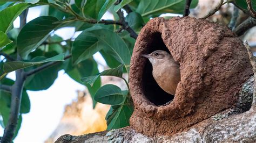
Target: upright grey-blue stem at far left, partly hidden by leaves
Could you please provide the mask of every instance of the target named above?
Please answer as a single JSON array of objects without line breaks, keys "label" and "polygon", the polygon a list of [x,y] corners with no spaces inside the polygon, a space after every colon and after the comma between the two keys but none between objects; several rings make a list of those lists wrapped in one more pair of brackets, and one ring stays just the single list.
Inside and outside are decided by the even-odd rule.
[{"label": "upright grey-blue stem at far left, partly hidden by leaves", "polygon": [[[19,16],[21,21],[19,23],[19,30],[26,24],[26,16],[28,15],[28,10],[26,9],[22,12]],[[21,57],[17,54],[17,60],[20,60]],[[9,114],[8,123],[4,128],[4,134],[1,139],[1,143],[11,142],[12,138],[14,138],[14,133],[18,124],[18,116],[19,110],[21,108],[21,98],[22,98],[22,91],[25,82],[25,76],[23,69],[19,69],[15,71],[16,80],[14,85],[11,88],[11,110]]]}]

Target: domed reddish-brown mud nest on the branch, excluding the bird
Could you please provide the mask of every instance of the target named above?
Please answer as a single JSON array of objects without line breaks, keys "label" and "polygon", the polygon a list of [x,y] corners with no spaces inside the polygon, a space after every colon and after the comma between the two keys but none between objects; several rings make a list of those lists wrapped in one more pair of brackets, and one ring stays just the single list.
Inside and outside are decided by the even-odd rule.
[{"label": "domed reddish-brown mud nest on the branch, excluding the bird", "polygon": [[[157,49],[170,51],[180,64],[174,98],[159,88],[149,61],[140,56]],[[154,18],[143,27],[133,49],[131,127],[146,135],[186,131],[231,108],[241,84],[252,74],[246,48],[228,27],[192,17]]]}]

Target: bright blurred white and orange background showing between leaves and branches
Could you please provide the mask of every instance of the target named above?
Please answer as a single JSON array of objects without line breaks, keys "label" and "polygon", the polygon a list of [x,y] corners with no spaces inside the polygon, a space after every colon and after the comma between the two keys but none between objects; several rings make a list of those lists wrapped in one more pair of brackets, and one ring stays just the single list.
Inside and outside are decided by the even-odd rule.
[{"label": "bright blurred white and orange background showing between leaves and branches", "polygon": [[[191,10],[190,16],[201,18],[219,4],[219,0],[199,0],[196,9]],[[44,15],[44,6],[30,8],[27,22],[36,17]],[[212,22],[228,25],[234,8],[232,4],[226,4],[208,18]],[[239,10],[240,13],[242,13]],[[127,15],[125,13],[125,15]],[[161,15],[161,17],[171,18],[171,13]],[[240,23],[247,17],[240,15]],[[111,13],[107,12],[102,19],[113,19]],[[19,17],[14,22],[14,27],[19,27]],[[256,27],[242,35],[241,40],[247,40],[249,44],[256,48]],[[52,34],[57,34],[63,40],[76,38],[81,32],[75,32],[75,27],[60,28]],[[256,50],[255,50],[256,51]],[[1,58],[1,57],[0,57]],[[93,58],[98,63],[99,71],[107,69],[103,57],[96,53]],[[15,73],[8,75],[15,80]],[[102,77],[102,84],[115,84],[125,89],[125,83],[119,78]],[[42,91],[28,91],[31,110],[23,115],[21,129],[14,142],[54,142],[60,135],[72,134],[81,135],[92,132],[106,130],[105,116],[110,105],[97,103],[92,109],[92,99],[86,87],[72,80],[64,70],[60,70],[58,78],[53,85]],[[0,134],[4,129],[0,126]]]}]

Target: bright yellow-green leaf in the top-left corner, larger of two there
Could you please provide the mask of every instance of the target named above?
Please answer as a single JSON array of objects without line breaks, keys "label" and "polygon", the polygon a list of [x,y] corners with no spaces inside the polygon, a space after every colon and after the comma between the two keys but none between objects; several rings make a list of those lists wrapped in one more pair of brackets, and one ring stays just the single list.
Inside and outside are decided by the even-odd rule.
[{"label": "bright yellow-green leaf in the top-left corner, larger of two there", "polygon": [[0,11],[0,31],[7,33],[14,20],[22,13],[22,11],[28,8],[28,6],[28,3],[19,3]]}]

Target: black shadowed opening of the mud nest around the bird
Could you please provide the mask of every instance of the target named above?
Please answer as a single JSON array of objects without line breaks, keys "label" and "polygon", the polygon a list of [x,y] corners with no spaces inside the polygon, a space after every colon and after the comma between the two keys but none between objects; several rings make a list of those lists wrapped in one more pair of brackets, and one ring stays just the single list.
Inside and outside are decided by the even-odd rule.
[{"label": "black shadowed opening of the mud nest around the bird", "polygon": [[[147,51],[144,54],[150,54],[159,49],[170,53],[169,49],[165,46],[164,41],[161,38],[161,33],[159,32],[149,35],[149,43],[147,44],[146,49]],[[144,95],[154,105],[165,105],[174,98],[173,95],[170,95],[161,89],[156,80],[154,80],[152,75],[152,65],[149,60],[146,61],[143,69],[142,86]]]}]

